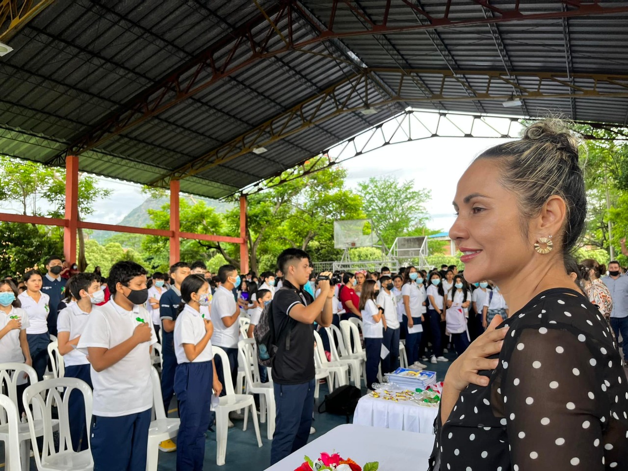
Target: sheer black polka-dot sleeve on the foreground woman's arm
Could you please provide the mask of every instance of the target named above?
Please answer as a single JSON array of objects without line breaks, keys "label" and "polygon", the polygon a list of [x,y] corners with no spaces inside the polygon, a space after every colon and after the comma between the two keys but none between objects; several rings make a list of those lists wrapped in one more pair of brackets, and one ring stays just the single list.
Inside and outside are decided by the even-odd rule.
[{"label": "sheer black polka-dot sleeve on the foreground woman's arm", "polygon": [[[559,327],[522,328],[509,340],[514,347],[501,364],[500,407],[512,469],[625,469],[626,452],[618,446],[624,448],[625,437],[619,429],[615,435],[607,430],[613,378],[604,377],[609,365],[601,368],[605,349],[583,333]],[[624,401],[621,409],[615,404],[617,410],[625,411]]]}]

